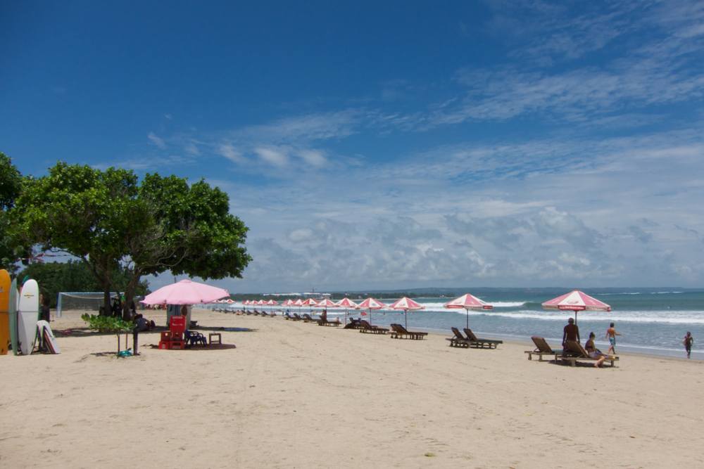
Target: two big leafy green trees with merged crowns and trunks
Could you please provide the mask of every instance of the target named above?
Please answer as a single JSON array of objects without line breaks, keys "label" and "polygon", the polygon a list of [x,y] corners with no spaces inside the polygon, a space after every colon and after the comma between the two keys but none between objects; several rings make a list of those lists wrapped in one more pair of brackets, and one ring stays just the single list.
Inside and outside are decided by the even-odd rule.
[{"label": "two big leafy green trees with merged crowns and trunks", "polygon": [[247,228],[230,214],[227,194],[177,176],[147,174],[138,182],[125,169],[60,162],[25,186],[15,209],[18,232],[89,266],[105,292],[106,311],[118,266],[130,276],[125,313],[144,275],[241,277],[251,260]]}]

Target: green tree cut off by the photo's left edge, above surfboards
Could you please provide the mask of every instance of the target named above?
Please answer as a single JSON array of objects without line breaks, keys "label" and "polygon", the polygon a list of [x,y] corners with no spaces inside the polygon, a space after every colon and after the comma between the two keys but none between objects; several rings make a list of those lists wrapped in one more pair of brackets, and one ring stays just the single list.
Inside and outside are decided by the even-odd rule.
[{"label": "green tree cut off by the photo's left edge, above surfboards", "polygon": [[22,190],[23,177],[12,160],[0,152],[0,265],[9,271],[15,270],[18,257],[23,257],[25,248],[12,235],[8,210],[15,205]]}]

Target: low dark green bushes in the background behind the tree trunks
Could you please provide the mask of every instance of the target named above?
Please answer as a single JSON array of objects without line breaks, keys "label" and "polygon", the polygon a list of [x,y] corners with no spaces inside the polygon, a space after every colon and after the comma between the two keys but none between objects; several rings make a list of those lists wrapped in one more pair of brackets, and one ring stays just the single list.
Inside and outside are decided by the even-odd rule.
[{"label": "low dark green bushes in the background behind the tree trunks", "polygon": [[[93,272],[81,261],[46,262],[30,264],[20,272],[20,277],[29,276],[39,283],[42,294],[51,299],[51,307],[56,307],[59,292],[101,291],[101,285]],[[111,273],[111,291],[124,292],[132,278],[132,272],[120,266]],[[146,295],[148,285],[142,281],[137,285],[136,295]]]}]

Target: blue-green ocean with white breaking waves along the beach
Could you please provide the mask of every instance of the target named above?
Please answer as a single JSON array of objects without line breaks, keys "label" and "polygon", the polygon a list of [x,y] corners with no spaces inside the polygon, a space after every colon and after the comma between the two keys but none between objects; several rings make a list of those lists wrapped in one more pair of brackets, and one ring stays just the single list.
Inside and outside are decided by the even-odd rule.
[{"label": "blue-green ocean with white breaking waves along the beach", "polygon": [[[530,341],[531,335],[546,338],[553,347],[560,345],[562,328],[572,311],[546,311],[541,303],[567,293],[550,289],[472,289],[469,293],[494,304],[490,311],[470,311],[470,328],[477,335],[489,338]],[[596,334],[596,345],[604,352],[608,348],[605,331],[610,322],[622,334],[617,338],[617,352],[636,352],[666,356],[686,356],[682,338],[687,331],[694,337],[692,359],[704,359],[699,341],[704,344],[704,291],[668,289],[584,290],[611,305],[612,311],[584,311],[577,314],[577,326],[582,343],[589,333]],[[450,328],[466,325],[464,309],[445,309],[443,305],[457,295],[413,297],[425,306],[422,311],[408,312],[408,328],[451,334]],[[377,295],[377,300],[391,304],[398,299],[393,294]],[[240,303],[232,305],[239,309]],[[292,312],[298,308],[291,308]],[[303,312],[308,312],[306,307]],[[313,309],[319,313],[320,309]],[[350,311],[359,317],[361,311]],[[344,310],[328,309],[328,316],[344,318]],[[367,316],[363,316],[369,319]],[[379,326],[404,323],[403,311],[372,311],[372,323]],[[702,347],[704,349],[704,347]]]}]

